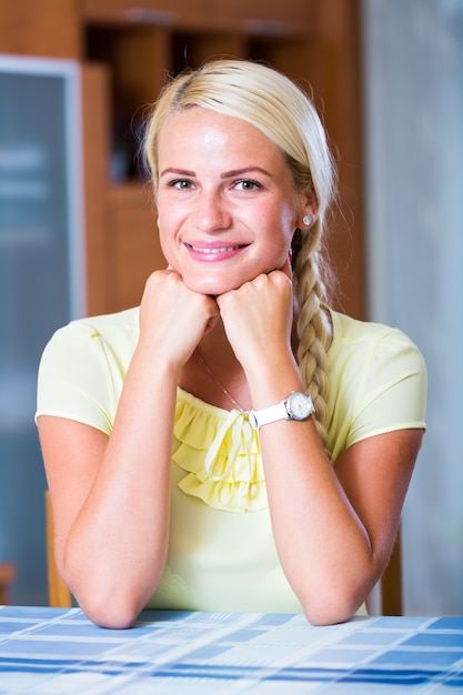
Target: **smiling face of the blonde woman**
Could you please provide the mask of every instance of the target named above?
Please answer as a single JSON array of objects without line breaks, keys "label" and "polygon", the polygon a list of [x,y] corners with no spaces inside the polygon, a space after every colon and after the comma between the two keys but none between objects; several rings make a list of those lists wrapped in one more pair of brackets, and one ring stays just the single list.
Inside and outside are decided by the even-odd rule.
[{"label": "smiling face of the blonde woman", "polygon": [[310,210],[261,131],[194,107],[169,117],[158,160],[161,246],[191,290],[222,294],[283,266]]}]

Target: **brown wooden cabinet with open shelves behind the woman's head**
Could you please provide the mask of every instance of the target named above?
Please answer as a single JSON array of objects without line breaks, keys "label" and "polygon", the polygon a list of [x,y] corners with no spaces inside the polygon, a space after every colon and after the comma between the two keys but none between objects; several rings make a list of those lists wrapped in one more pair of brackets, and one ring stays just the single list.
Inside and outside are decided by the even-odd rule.
[{"label": "brown wooden cabinet with open shelves behind the woman's head", "polygon": [[30,20],[20,22],[26,9],[38,16],[36,0],[0,8],[0,50],[68,50],[82,63],[89,313],[138,303],[149,272],[164,263],[137,162],[145,109],[168,72],[227,56],[265,60],[312,84],[339,153],[341,211],[328,239],[338,306],[363,318],[359,0],[43,0],[41,10],[44,4],[40,39]]}]

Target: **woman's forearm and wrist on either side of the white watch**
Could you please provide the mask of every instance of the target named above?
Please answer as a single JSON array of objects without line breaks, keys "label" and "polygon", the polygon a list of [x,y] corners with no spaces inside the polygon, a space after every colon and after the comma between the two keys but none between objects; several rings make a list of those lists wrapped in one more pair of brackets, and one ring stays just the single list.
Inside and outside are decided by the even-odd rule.
[{"label": "woman's forearm and wrist on either side of the white watch", "polygon": [[[265,407],[303,390],[296,367],[259,364],[253,403]],[[286,577],[312,622],[349,617],[374,584],[376,564],[365,527],[348,500],[313,419],[260,430],[273,533]]]}]

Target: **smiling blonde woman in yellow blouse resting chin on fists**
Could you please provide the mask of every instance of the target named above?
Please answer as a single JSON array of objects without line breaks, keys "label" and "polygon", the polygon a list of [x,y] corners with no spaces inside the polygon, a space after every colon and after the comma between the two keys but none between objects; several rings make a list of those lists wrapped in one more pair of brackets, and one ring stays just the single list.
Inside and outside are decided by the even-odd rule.
[{"label": "smiling blonde woman in yellow blouse resting chin on fists", "polygon": [[41,362],[58,567],[108,627],[144,606],[344,621],[394,543],[422,357],[326,305],[333,168],[285,77],[180,75],[144,151],[168,268],[139,309],[71,323]]}]

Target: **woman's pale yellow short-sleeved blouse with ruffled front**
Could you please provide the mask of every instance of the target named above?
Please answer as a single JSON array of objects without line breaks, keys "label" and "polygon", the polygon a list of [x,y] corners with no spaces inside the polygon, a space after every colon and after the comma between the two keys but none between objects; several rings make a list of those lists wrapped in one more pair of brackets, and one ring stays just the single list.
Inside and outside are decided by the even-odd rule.
[{"label": "woman's pale yellow short-sleeved blouse with ruffled front", "polygon": [[[336,312],[332,318],[328,450],[335,465],[364,437],[424,429],[426,374],[419,350],[400,331]],[[42,355],[36,417],[70,417],[110,435],[138,334],[138,309],[60,329]],[[180,387],[169,555],[148,607],[302,610],[278,558],[258,432],[246,414]]]}]

